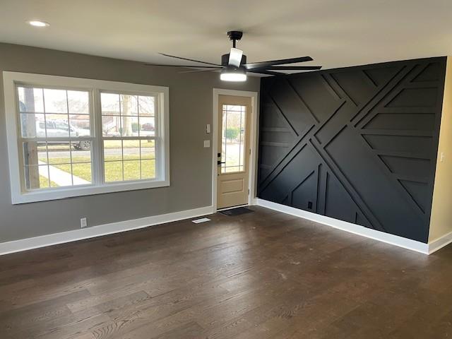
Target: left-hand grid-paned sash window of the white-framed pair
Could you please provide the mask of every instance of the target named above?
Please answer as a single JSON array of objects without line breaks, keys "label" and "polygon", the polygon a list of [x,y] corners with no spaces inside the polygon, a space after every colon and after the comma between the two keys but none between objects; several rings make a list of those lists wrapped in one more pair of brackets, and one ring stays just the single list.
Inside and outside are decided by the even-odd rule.
[{"label": "left-hand grid-paned sash window of the white-framed pair", "polygon": [[92,184],[90,92],[16,85],[24,189]]}]

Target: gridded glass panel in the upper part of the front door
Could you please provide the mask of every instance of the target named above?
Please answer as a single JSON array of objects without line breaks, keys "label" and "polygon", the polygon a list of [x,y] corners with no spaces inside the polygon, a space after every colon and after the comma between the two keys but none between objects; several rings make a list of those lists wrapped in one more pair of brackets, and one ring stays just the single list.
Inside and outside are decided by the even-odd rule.
[{"label": "gridded glass panel in the upper part of the front door", "polygon": [[222,173],[244,171],[246,106],[223,105],[222,111]]}]

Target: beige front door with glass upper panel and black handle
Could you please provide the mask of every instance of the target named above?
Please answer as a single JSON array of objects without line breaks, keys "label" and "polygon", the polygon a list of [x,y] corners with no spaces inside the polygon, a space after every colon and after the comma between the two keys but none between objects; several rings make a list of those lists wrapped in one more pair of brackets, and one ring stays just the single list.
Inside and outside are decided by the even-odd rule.
[{"label": "beige front door with glass upper panel and black handle", "polygon": [[218,96],[217,208],[248,202],[250,122],[251,97]]}]

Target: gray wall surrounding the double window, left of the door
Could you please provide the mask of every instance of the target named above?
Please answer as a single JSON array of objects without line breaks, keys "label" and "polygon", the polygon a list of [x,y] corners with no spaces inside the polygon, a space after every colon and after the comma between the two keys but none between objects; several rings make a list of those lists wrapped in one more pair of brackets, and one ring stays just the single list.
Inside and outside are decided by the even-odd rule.
[{"label": "gray wall surrounding the double window, left of the door", "polygon": [[259,90],[259,78],[220,82],[218,73],[185,73],[142,63],[51,49],[0,44],[3,71],[42,73],[169,87],[171,186],[13,206],[8,174],[3,78],[0,80],[0,242],[210,206],[211,148],[203,148],[211,124],[213,88]]}]

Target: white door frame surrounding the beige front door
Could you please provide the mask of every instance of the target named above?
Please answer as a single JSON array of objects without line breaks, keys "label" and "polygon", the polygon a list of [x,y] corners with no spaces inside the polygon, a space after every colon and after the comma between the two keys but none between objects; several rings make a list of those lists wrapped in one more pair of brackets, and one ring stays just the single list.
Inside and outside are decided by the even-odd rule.
[{"label": "white door frame surrounding the beige front door", "polygon": [[[213,115],[212,115],[212,209],[213,213],[217,211],[217,153],[218,153],[218,96],[219,95],[234,95],[237,97],[250,97],[251,98],[251,126],[249,141],[251,143],[251,154],[249,155],[249,180],[248,180],[248,205],[252,205],[255,198],[256,187],[256,157],[257,157],[257,106],[258,106],[258,93],[249,92],[246,90],[226,90],[223,88],[213,88]],[[223,208],[224,209],[224,208]],[[227,209],[227,208],[225,208]]]}]

